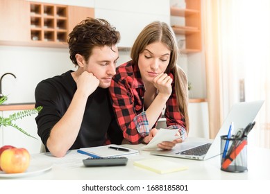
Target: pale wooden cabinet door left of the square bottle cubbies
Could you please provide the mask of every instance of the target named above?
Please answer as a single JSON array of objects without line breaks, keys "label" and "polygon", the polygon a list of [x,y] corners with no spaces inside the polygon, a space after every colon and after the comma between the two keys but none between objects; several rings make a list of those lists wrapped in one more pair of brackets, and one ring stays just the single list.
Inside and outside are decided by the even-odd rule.
[{"label": "pale wooden cabinet door left of the square bottle cubbies", "polygon": [[22,0],[1,0],[0,40],[29,41],[30,3]]}]

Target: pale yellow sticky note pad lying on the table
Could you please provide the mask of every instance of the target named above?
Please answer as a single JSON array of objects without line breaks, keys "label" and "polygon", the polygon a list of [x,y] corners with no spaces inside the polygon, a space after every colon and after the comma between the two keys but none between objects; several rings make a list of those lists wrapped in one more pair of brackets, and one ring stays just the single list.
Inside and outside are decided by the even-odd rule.
[{"label": "pale yellow sticky note pad lying on the table", "polygon": [[144,168],[146,170],[151,170],[155,173],[165,174],[165,173],[173,173],[180,170],[186,170],[187,166],[180,164],[174,161],[168,161],[160,158],[153,159],[143,159],[139,161],[134,161],[134,166],[138,166],[140,168]]}]

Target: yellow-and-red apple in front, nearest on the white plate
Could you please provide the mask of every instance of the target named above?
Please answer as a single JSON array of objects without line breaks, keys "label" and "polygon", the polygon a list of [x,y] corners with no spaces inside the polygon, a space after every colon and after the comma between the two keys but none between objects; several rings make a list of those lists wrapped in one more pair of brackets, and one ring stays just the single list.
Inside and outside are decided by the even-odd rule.
[{"label": "yellow-and-red apple in front, nearest on the white plate", "polygon": [[10,148],[2,152],[0,166],[5,173],[24,173],[30,164],[30,154],[25,148]]}]

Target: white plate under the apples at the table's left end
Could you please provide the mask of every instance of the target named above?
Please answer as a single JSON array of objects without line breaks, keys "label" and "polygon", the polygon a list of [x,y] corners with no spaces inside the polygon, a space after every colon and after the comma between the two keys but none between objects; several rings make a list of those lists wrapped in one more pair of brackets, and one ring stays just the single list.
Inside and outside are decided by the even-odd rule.
[{"label": "white plate under the apples at the table's left end", "polygon": [[39,173],[45,172],[47,170],[50,170],[53,167],[53,164],[51,163],[44,163],[44,164],[30,164],[28,169],[24,173],[4,173],[3,171],[0,171],[0,177],[3,178],[18,178],[18,177],[27,177],[31,175],[37,175]]}]

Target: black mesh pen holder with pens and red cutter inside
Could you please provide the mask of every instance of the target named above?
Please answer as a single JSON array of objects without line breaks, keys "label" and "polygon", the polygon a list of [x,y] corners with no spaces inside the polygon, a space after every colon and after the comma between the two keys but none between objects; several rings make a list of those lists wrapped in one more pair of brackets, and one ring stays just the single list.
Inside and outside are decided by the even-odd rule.
[{"label": "black mesh pen holder with pens and red cutter inside", "polygon": [[247,168],[247,137],[221,136],[221,170],[243,173]]}]

